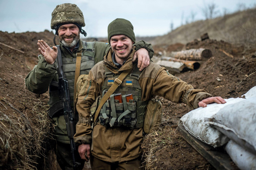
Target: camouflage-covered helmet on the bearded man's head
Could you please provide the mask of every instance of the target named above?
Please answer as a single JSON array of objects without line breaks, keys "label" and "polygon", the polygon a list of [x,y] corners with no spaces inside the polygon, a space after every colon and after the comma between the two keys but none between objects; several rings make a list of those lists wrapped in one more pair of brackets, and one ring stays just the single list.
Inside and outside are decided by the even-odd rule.
[{"label": "camouflage-covered helmet on the bearded man's head", "polygon": [[82,27],[85,26],[83,12],[76,6],[76,4],[63,3],[57,5],[53,10],[51,28],[56,29],[55,26],[66,23],[77,23]]}]

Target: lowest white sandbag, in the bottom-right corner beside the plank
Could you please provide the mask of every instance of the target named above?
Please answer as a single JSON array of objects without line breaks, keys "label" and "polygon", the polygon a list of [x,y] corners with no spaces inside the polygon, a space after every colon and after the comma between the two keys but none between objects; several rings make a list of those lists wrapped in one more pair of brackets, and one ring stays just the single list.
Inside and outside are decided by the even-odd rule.
[{"label": "lowest white sandbag, in the bottom-right corner beside the plank", "polygon": [[248,152],[234,141],[230,140],[227,143],[225,150],[239,169],[256,169],[256,155]]}]

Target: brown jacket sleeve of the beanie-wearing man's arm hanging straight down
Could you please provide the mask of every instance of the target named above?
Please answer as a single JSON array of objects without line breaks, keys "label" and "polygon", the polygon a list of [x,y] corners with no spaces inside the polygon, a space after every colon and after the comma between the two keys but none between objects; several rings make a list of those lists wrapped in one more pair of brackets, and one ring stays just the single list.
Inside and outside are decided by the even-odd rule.
[{"label": "brown jacket sleeve of the beanie-wearing man's arm hanging straight down", "polygon": [[93,78],[92,71],[89,72],[87,81],[87,84],[85,83],[84,87],[82,87],[79,92],[76,104],[79,120],[76,124],[74,141],[78,144],[90,143],[92,141],[91,124],[93,120],[90,119],[90,106],[92,106],[97,96],[100,95],[99,88]]}]

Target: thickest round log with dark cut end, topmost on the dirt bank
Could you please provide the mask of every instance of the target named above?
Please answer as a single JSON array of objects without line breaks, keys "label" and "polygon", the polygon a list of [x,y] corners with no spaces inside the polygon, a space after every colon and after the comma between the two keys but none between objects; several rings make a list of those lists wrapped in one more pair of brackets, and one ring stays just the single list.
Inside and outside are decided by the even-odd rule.
[{"label": "thickest round log with dark cut end, topmost on the dirt bank", "polygon": [[182,51],[173,51],[170,57],[181,59],[181,60],[207,60],[212,57],[212,51],[204,48],[189,49]]}]

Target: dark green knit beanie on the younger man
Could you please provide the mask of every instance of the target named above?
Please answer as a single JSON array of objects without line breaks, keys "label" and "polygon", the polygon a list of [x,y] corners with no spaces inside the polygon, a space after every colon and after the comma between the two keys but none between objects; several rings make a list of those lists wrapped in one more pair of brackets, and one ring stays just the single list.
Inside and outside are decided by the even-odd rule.
[{"label": "dark green knit beanie on the younger man", "polygon": [[136,40],[131,22],[122,18],[117,18],[108,25],[109,44],[110,44],[110,38],[114,35],[126,35],[134,43]]}]

